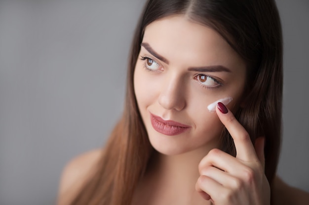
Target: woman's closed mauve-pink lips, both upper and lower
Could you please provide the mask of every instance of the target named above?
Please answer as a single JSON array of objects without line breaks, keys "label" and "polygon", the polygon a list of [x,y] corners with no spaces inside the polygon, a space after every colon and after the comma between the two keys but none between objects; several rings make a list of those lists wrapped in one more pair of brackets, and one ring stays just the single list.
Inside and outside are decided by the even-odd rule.
[{"label": "woman's closed mauve-pink lips, both upper and lower", "polygon": [[154,127],[154,130],[162,133],[164,135],[179,135],[180,133],[185,132],[190,126],[175,122],[173,120],[164,120],[161,117],[150,115],[151,123]]}]

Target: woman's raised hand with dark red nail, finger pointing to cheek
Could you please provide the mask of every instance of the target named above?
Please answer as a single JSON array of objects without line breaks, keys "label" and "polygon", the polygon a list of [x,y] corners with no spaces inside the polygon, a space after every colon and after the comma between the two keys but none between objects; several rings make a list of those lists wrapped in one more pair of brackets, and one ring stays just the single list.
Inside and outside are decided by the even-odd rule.
[{"label": "woman's raised hand with dark red nail, finger pointing to cheek", "polygon": [[[220,103],[219,103],[220,104]],[[216,113],[230,132],[236,147],[236,157],[212,149],[199,163],[199,178],[195,184],[205,200],[214,205],[270,205],[270,185],[265,176],[264,137],[251,143],[248,132],[227,108]]]}]

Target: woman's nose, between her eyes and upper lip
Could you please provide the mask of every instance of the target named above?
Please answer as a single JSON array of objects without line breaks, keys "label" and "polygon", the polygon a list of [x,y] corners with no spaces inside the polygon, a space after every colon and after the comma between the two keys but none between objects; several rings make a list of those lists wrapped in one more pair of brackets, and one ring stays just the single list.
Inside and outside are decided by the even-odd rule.
[{"label": "woman's nose, between her eyes and upper lip", "polygon": [[183,110],[186,107],[185,82],[177,76],[173,78],[167,77],[164,82],[161,84],[158,103],[167,110]]}]

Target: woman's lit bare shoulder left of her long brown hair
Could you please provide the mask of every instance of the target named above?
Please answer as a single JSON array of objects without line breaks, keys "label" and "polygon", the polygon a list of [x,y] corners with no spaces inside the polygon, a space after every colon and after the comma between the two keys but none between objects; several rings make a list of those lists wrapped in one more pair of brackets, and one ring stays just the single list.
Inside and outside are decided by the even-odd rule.
[{"label": "woman's lit bare shoulder left of her long brown hair", "polygon": [[58,205],[69,205],[83,183],[94,173],[102,150],[95,149],[73,158],[64,168],[60,179]]}]

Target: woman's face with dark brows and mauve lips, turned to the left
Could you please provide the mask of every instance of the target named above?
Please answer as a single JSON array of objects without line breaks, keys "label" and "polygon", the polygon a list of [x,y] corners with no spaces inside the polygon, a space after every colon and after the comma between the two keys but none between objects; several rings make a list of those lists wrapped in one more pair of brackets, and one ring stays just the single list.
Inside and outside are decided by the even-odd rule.
[{"label": "woman's face with dark brows and mauve lips, turned to the left", "polygon": [[138,107],[150,142],[163,154],[219,147],[223,125],[207,106],[241,103],[245,62],[213,29],[169,16],[145,29],[134,72]]}]

